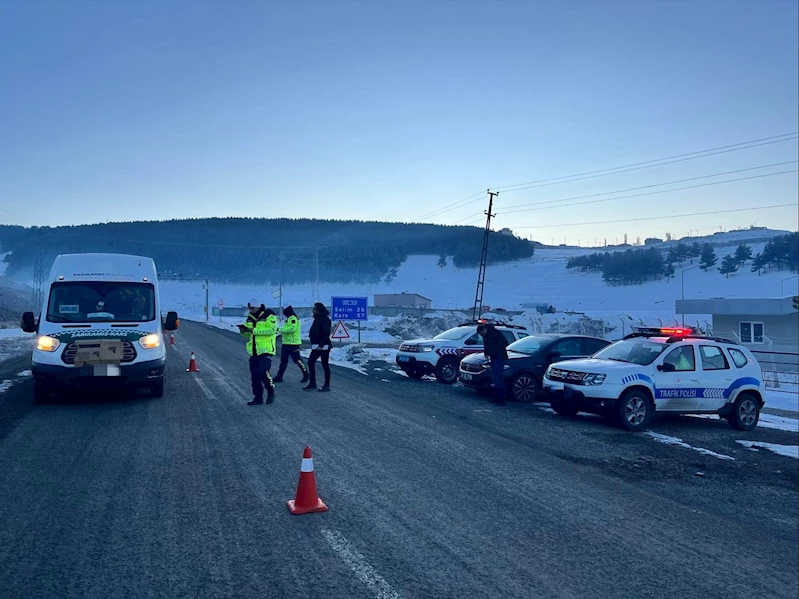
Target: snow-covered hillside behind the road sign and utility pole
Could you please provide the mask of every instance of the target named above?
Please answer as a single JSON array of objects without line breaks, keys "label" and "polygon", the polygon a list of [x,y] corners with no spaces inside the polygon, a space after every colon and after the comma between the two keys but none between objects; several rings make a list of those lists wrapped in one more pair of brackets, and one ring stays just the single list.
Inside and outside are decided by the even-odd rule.
[{"label": "snow-covered hillside behind the road sign and utility pole", "polygon": [[[743,234],[746,232],[740,232]],[[737,233],[725,234],[736,235]],[[722,236],[719,236],[722,237]],[[717,239],[722,241],[722,239]],[[735,239],[735,242],[738,240]],[[755,253],[764,243],[752,244]],[[719,264],[723,257],[735,250],[735,243],[717,247]],[[685,263],[676,269],[671,280],[650,281],[642,285],[609,286],[597,273],[582,274],[566,270],[572,256],[592,253],[594,250],[539,249],[525,261],[512,262],[488,268],[484,303],[492,308],[518,310],[522,304],[547,303],[561,311],[579,311],[589,315],[630,314],[638,317],[673,319],[674,302],[682,296],[684,279],[686,298],[714,297],[778,297],[797,293],[799,278],[788,271],[771,271],[763,275],[752,273],[745,265],[737,273],[725,277],[716,268],[708,272],[692,268]],[[419,293],[430,298],[438,309],[467,308],[474,301],[477,281],[476,269],[456,269],[451,264],[437,265],[435,256],[412,256],[398,269],[391,283],[376,285],[322,284],[319,295],[325,303],[333,295],[361,295],[370,298],[375,293]],[[787,280],[786,280],[787,279]],[[251,297],[262,299],[267,305],[276,305],[272,299],[273,288],[248,285],[211,285],[211,304],[223,299],[228,306],[245,305]],[[314,300],[312,285],[286,286],[283,289],[284,305],[309,306]],[[205,291],[201,284],[162,284],[165,305],[184,314],[202,315]]]}]

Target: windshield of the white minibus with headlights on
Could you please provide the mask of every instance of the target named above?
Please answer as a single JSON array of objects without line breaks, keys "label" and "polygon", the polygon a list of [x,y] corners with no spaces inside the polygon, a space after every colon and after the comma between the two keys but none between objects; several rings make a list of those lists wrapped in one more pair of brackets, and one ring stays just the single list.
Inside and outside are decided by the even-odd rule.
[{"label": "windshield of the white minibus with headlights on", "polygon": [[150,322],[155,289],[149,283],[67,281],[54,283],[47,304],[49,322]]}]

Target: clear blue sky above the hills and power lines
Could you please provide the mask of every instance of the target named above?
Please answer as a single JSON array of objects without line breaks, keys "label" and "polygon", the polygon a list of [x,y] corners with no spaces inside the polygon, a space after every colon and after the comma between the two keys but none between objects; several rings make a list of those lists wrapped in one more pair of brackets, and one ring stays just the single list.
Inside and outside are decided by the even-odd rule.
[{"label": "clear blue sky above the hills and power lines", "polygon": [[[488,187],[791,133],[797,25],[788,0],[4,2],[0,222],[407,221]],[[496,225],[583,244],[754,222],[795,230],[795,207],[525,227],[795,203],[796,173],[503,210],[797,153],[794,140],[505,193]],[[465,217],[482,208],[429,220],[479,224]]]}]

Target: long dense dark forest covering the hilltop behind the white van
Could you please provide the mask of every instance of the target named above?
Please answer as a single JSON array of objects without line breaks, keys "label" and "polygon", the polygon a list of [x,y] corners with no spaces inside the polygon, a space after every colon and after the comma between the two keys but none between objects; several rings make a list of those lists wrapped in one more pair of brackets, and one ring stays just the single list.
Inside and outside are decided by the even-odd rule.
[{"label": "long dense dark forest covering the hilltop behind the white van", "polygon": [[[311,219],[211,218],[66,227],[0,226],[10,276],[30,278],[64,253],[112,252],[153,258],[164,277],[283,284],[392,280],[412,255],[456,268],[480,260],[483,230],[466,226]],[[492,233],[488,262],[532,257],[532,242]]]}]

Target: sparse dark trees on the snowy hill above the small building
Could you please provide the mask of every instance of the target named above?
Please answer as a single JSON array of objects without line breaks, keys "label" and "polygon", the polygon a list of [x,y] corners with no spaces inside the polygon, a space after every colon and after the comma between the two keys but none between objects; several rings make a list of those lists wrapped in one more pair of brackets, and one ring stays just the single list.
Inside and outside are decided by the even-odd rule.
[{"label": "sparse dark trees on the snowy hill above the small building", "polygon": [[[580,272],[600,272],[609,285],[634,285],[674,276],[677,267],[698,261],[702,270],[718,264],[713,244],[678,243],[663,252],[657,248],[628,249],[623,252],[598,252],[569,258],[566,268]],[[729,277],[747,262],[751,271],[762,274],[770,269],[799,271],[799,233],[780,235],[769,240],[762,252],[752,255],[752,248],[740,244],[725,256],[718,271]]]}]

